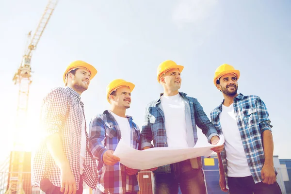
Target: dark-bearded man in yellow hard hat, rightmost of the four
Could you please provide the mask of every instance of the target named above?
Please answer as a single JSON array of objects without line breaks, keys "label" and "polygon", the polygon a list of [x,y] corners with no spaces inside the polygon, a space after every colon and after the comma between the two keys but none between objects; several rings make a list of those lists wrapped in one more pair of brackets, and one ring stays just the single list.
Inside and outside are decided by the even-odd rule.
[{"label": "dark-bearded man in yellow hard hat, rightmost of the four", "polygon": [[264,102],[238,94],[240,71],[228,64],[214,74],[223,102],[210,114],[225,149],[218,154],[219,184],[230,194],[281,194],[273,163],[272,125]]}]

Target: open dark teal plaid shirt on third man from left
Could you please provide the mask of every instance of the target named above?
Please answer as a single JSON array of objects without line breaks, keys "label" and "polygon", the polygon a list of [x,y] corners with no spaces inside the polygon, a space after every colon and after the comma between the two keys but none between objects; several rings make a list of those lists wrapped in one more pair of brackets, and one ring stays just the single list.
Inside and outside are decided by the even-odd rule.
[{"label": "open dark teal plaid shirt on third man from left", "polygon": [[[185,107],[185,115],[191,115],[191,124],[193,128],[194,143],[196,144],[198,140],[196,125],[202,129],[202,132],[207,136],[210,142],[211,137],[218,135],[215,127],[210,122],[207,115],[204,113],[202,106],[198,100],[194,97],[187,97],[185,93],[179,93],[184,99],[185,106],[189,106],[190,113]],[[161,94],[162,96],[162,94]],[[161,109],[161,98],[158,100],[150,102],[146,107],[145,113],[145,123],[142,128],[141,134],[141,148],[146,146],[153,147],[151,141],[154,143],[154,147],[167,147],[167,134],[165,128],[165,117]],[[188,126],[187,126],[188,127]],[[197,158],[199,168],[202,168],[201,157]],[[170,164],[160,166],[155,173],[170,173]]]}]

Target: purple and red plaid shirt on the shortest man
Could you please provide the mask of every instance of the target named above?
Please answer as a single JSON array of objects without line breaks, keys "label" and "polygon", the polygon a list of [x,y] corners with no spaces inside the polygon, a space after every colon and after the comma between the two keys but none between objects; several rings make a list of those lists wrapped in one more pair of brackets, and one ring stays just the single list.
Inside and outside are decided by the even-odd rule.
[{"label": "purple and red plaid shirt on the shortest man", "polygon": [[[139,148],[140,130],[127,116],[131,127],[131,147]],[[125,166],[119,162],[114,165],[106,165],[103,162],[103,154],[107,150],[115,150],[121,139],[118,123],[108,111],[92,118],[89,127],[89,149],[97,160],[98,184],[97,188],[106,194],[125,194],[126,192],[138,192],[137,175],[127,175]]]}]

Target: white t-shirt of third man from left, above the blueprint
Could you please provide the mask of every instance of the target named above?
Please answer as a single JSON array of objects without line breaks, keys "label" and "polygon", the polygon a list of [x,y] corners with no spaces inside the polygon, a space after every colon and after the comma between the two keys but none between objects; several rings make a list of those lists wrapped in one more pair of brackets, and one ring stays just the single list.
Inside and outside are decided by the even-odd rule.
[{"label": "white t-shirt of third man from left, above the blueprint", "polygon": [[180,94],[161,97],[168,147],[188,147],[185,104]]}]

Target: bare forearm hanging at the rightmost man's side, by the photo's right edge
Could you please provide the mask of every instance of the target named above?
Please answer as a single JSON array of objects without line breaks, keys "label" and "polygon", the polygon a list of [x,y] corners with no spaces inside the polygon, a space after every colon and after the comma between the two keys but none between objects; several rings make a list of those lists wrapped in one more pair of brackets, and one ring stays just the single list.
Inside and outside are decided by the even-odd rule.
[{"label": "bare forearm hanging at the rightmost man's side, by the photo's right edge", "polygon": [[273,152],[274,152],[274,143],[273,143],[273,135],[270,130],[264,130],[262,132],[263,138],[263,147],[265,154],[265,164],[274,165],[273,162]]}]

